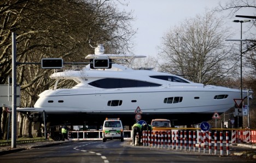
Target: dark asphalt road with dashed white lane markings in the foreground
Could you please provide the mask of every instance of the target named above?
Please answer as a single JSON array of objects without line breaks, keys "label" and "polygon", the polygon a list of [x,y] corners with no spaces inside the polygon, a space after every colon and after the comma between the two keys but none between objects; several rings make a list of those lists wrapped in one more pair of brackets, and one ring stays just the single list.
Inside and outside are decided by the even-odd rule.
[{"label": "dark asphalt road with dashed white lane markings in the foreground", "polygon": [[[237,148],[237,147],[236,147]],[[246,150],[242,148],[231,150]],[[0,156],[0,162],[255,162],[241,156],[208,155],[172,149],[131,146],[120,141],[67,142]]]}]

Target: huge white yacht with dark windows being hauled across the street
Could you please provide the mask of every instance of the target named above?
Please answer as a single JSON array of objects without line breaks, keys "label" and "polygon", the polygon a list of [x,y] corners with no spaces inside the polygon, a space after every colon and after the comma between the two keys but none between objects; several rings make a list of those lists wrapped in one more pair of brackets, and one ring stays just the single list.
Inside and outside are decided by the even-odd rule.
[{"label": "huge white yacht with dark windows being hauled across the street", "polygon": [[[85,59],[140,58],[144,56],[104,54],[100,44],[94,55]],[[111,68],[69,69],[50,76],[56,79],[53,89],[39,95],[34,108],[18,108],[31,112],[114,114],[119,117],[160,117],[182,121],[209,120],[235,106],[241,90],[193,83],[177,75],[145,69],[132,69],[117,63]],[[57,89],[59,80],[74,80],[70,89]],[[243,98],[247,96],[244,90]],[[138,109],[139,108],[139,109]],[[93,113],[93,114],[92,114]],[[96,114],[95,114],[96,113]],[[170,118],[171,115],[174,115]],[[207,115],[207,116],[205,116]],[[199,118],[200,117],[200,118]]]}]

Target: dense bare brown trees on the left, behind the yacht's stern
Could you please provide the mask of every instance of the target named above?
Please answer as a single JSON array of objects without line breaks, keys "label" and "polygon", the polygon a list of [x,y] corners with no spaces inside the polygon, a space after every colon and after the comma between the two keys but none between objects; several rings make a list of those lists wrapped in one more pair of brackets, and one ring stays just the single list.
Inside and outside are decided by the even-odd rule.
[{"label": "dense bare brown trees on the left, behind the yacht's stern", "polygon": [[[113,2],[101,0],[7,0],[0,2],[0,16],[1,84],[7,83],[11,73],[11,32],[17,33],[18,62],[40,62],[44,57],[81,62],[94,53],[89,40],[106,44],[110,52],[129,51],[135,33],[130,13],[119,12]],[[38,94],[53,86],[49,79],[53,71],[39,65],[19,65],[17,71],[21,107],[33,107]],[[30,137],[29,115],[23,124],[23,135]]]}]

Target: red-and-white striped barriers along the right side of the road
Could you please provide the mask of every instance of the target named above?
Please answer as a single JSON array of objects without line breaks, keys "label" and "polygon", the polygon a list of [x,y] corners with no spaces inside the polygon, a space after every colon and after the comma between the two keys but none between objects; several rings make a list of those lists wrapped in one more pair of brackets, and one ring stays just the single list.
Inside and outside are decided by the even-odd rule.
[{"label": "red-and-white striped barriers along the right side of the road", "polygon": [[[233,132],[235,133],[235,131],[236,130]],[[251,140],[253,139],[253,141],[255,141],[256,131],[249,132],[251,135],[247,134],[247,130],[243,132],[245,132],[245,139],[251,136]],[[217,154],[218,150],[220,155],[224,155],[224,151],[226,151],[226,155],[229,155],[229,133],[230,131],[211,132],[201,130],[143,131],[142,143],[143,146],[149,146],[153,148],[172,148],[176,150],[188,149],[189,151],[194,150],[194,152],[198,150],[199,153],[201,152],[201,149],[203,149],[203,153],[206,153],[206,150],[208,149],[209,154],[212,154],[212,146],[214,146],[213,149],[215,155]],[[235,135],[235,137],[236,136],[238,135]],[[224,144],[226,146],[225,149]]]}]

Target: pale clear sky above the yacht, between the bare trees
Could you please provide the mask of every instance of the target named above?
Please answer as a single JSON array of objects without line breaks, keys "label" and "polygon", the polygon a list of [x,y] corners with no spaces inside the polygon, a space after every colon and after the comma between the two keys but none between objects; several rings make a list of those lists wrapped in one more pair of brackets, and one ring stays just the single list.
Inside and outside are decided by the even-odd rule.
[{"label": "pale clear sky above the yacht, between the bare trees", "polygon": [[[179,26],[185,19],[194,18],[197,14],[205,14],[206,10],[219,6],[219,2],[225,4],[230,0],[118,0],[127,4],[121,5],[120,10],[133,11],[135,21],[132,22],[133,29],[137,29],[134,39],[135,47],[132,50],[136,55],[157,56],[157,46],[161,45],[161,37],[172,27]],[[253,0],[249,0],[253,1]],[[226,12],[228,14],[229,12]],[[225,14],[225,13],[222,13]],[[238,11],[236,15],[254,15],[253,10]],[[233,20],[245,18],[227,19],[230,26],[237,32],[234,38],[240,38],[241,25]],[[247,25],[246,25],[247,24]],[[250,27],[250,23],[243,23],[243,29]],[[251,24],[252,25],[252,24]],[[233,38],[233,39],[234,39]]]}]

